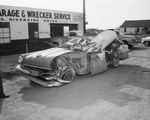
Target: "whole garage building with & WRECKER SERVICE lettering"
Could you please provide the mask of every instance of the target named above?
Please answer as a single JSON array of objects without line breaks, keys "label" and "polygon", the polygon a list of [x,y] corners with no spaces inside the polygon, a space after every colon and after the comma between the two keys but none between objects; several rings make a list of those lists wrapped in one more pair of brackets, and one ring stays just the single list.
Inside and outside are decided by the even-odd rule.
[{"label": "whole garage building with & WRECKER SERVICE lettering", "polygon": [[0,54],[48,48],[45,41],[83,31],[83,13],[0,6]]}]

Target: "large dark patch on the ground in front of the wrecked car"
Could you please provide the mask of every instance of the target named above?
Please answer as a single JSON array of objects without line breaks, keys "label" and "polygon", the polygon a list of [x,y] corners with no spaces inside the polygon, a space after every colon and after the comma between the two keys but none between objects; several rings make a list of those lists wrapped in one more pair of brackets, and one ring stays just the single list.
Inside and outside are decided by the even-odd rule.
[{"label": "large dark patch on the ground in front of the wrecked car", "polygon": [[119,106],[142,98],[119,91],[125,85],[150,90],[150,69],[120,65],[94,76],[77,76],[70,84],[44,88],[33,82],[19,93],[26,102],[35,102],[50,108],[81,109],[104,100]]}]

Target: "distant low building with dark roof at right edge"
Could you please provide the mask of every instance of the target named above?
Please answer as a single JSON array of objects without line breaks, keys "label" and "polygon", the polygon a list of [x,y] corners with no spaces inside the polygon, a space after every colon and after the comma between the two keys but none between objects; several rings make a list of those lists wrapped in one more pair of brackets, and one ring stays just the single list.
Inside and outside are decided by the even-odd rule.
[{"label": "distant low building with dark roof at right edge", "polygon": [[125,34],[150,34],[150,20],[126,20],[119,29]]}]

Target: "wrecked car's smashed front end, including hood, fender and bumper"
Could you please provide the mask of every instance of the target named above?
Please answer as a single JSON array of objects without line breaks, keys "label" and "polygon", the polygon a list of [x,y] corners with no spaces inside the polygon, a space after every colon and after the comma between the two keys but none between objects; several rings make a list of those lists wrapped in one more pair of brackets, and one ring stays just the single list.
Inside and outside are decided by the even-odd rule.
[{"label": "wrecked car's smashed front end, including hood, fender and bumper", "polygon": [[19,57],[16,69],[31,81],[45,87],[60,86],[69,83],[73,76],[69,78],[70,80],[61,79],[62,76],[70,70],[68,63],[61,55],[72,51],[64,51],[62,51],[62,49],[56,51],[53,57],[52,54],[50,56],[43,56],[46,51],[38,54],[37,52],[24,54]]}]

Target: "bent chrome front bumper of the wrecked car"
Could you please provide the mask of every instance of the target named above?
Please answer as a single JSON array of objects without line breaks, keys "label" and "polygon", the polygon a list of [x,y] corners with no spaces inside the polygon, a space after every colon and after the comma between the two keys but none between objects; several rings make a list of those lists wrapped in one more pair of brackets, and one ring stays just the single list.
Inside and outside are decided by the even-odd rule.
[{"label": "bent chrome front bumper of the wrecked car", "polygon": [[37,77],[30,75],[30,72],[23,69],[20,64],[16,66],[16,70],[24,77],[44,87],[56,87],[66,83],[70,83],[70,81],[64,81],[56,76],[47,77],[45,78],[45,80],[38,79]]}]

